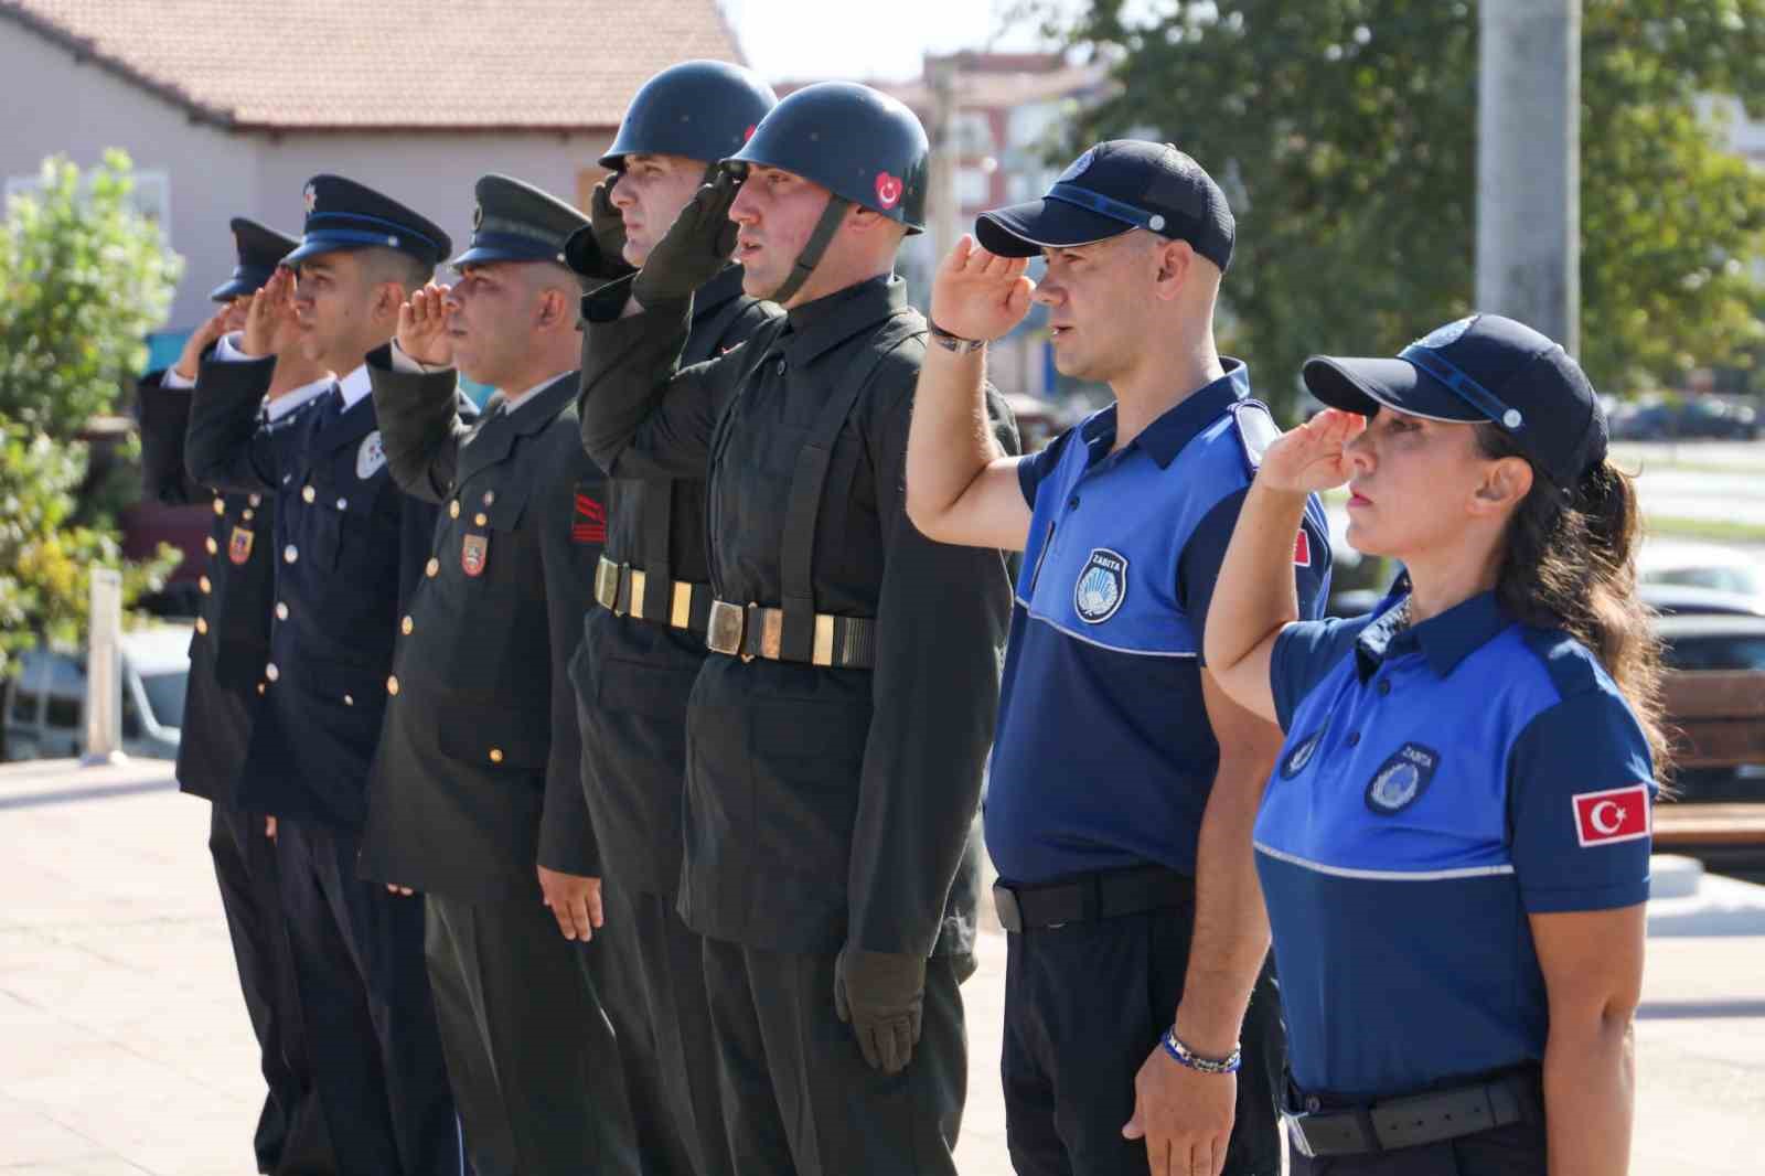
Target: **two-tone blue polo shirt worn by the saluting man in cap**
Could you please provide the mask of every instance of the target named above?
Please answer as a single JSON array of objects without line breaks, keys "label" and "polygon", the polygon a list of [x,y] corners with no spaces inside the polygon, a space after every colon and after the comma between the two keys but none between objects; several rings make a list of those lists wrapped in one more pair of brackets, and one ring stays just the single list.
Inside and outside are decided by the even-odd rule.
[{"label": "two-tone blue polo shirt worn by the saluting man in cap", "polygon": [[[1115,452],[1115,408],[1018,463],[1031,505],[988,768],[987,849],[1008,883],[1133,865],[1195,872],[1220,747],[1200,650],[1269,410],[1239,360]],[[1329,530],[1296,535],[1301,616]]]}]

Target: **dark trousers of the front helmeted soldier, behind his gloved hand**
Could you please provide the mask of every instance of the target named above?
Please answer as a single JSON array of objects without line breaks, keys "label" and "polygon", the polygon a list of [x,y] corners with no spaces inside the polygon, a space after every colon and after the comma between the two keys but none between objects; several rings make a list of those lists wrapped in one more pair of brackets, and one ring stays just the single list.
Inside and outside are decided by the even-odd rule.
[{"label": "dark trousers of the front helmeted soldier, behind his gloved hand", "polygon": [[967,1098],[958,968],[932,959],[913,1061],[872,1070],[833,1010],[833,955],[704,939],[724,1130],[741,1176],[955,1176]]}]

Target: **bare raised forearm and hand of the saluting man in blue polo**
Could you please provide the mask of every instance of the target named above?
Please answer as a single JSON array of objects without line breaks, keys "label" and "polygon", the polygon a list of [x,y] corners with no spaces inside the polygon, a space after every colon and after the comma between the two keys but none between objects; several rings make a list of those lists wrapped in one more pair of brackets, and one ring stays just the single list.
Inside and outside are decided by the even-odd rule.
[{"label": "bare raised forearm and hand of the saluting man in blue polo", "polygon": [[[997,258],[964,235],[937,267],[932,323],[962,339],[997,339],[1029,313],[1034,283],[1024,258]],[[958,344],[960,346],[960,344]],[[946,544],[1022,551],[1029,505],[1015,456],[999,450],[987,418],[985,348],[957,350],[935,335],[925,350],[907,440],[907,517]]]}]

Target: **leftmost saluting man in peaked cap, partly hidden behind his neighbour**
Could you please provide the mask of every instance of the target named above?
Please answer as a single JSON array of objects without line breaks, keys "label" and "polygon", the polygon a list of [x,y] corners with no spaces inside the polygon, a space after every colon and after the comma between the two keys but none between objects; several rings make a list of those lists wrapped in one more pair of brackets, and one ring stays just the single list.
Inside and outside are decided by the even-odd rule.
[{"label": "leftmost saluting man in peaked cap, partly hidden behind his neighbour", "polygon": [[[274,507],[263,494],[212,494],[184,468],[191,388],[203,351],[228,325],[244,321],[251,295],[295,247],[291,238],[244,217],[235,217],[231,230],[238,267],[208,295],[222,311],[191,334],[173,367],[148,373],[136,385],[141,473],[145,494],[168,507],[214,503],[208,562],[196,581],[196,636],[191,639],[176,779],[182,791],[210,802],[208,853],[268,1086],[254,1135],[258,1171],[314,1172],[330,1171],[330,1144],[300,1040],[300,1010],[277,897],[275,844],[265,832],[268,814],[247,812],[237,803],[258,682],[270,648]],[[328,388],[328,373],[289,348],[277,358],[265,415],[286,422],[288,413]]]}]

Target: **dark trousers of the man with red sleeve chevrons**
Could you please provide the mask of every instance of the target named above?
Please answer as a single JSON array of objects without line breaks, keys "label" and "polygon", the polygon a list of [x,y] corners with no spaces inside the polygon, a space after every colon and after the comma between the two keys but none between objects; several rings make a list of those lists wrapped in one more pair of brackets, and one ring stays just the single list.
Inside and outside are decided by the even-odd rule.
[{"label": "dark trousers of the man with red sleeve chevrons", "polygon": [[429,985],[477,1176],[637,1176],[620,1047],[572,943],[531,897],[429,895]]}]

